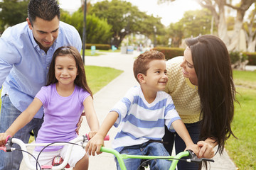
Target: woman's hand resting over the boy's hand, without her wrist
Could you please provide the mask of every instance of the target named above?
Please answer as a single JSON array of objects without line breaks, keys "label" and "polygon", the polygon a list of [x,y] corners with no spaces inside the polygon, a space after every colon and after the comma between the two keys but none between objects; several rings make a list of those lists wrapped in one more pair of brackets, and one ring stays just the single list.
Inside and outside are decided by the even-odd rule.
[{"label": "woman's hand resting over the boy's hand, without her wrist", "polygon": [[198,158],[213,158],[214,157],[214,147],[212,143],[206,141],[199,141],[197,145],[200,147]]}]

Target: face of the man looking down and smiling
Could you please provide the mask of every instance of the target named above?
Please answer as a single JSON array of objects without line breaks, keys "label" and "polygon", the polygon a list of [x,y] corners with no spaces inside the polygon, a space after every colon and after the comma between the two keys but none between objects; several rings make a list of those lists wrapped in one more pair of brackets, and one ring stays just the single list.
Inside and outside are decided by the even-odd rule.
[{"label": "face of the man looking down and smiling", "polygon": [[47,51],[58,37],[60,23],[58,16],[55,16],[52,21],[46,21],[42,18],[36,17],[36,20],[33,22],[33,26],[28,18],[27,22],[28,27],[32,30],[33,37],[35,38],[39,47],[42,50]]}]

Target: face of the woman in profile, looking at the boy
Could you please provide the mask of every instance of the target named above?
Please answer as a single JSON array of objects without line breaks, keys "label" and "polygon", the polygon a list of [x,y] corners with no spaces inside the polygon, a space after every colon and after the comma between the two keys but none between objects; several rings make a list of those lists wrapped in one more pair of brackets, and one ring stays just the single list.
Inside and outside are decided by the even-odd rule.
[{"label": "face of the woman in profile, looking at the boy", "polygon": [[188,78],[193,85],[198,85],[195,68],[193,67],[192,53],[189,47],[184,51],[184,59],[181,63],[183,76]]}]

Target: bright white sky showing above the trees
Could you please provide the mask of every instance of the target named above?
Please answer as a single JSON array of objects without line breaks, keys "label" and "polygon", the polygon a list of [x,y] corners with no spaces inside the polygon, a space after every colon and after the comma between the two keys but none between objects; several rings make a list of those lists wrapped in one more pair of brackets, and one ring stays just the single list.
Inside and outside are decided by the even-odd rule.
[{"label": "bright white sky showing above the trees", "polygon": [[[100,0],[87,0],[94,4]],[[161,17],[161,23],[169,26],[170,23],[178,22],[185,11],[201,9],[201,6],[193,0],[176,0],[174,2],[166,2],[157,4],[157,0],[126,0],[134,6],[138,6],[139,11],[146,14]],[[69,11],[76,11],[81,6],[81,0],[59,0],[60,8]]]}]

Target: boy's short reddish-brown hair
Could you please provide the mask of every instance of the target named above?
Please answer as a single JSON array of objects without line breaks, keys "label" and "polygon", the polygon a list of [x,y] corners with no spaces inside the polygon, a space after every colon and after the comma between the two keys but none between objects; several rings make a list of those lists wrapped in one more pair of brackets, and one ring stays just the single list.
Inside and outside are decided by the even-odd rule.
[{"label": "boy's short reddish-brown hair", "polygon": [[137,79],[138,82],[139,82],[139,79],[137,75],[139,73],[146,75],[146,71],[149,69],[148,64],[152,60],[165,60],[165,56],[163,52],[150,50],[139,55],[139,57],[137,57],[137,59],[134,61],[134,66],[133,66],[134,77],[135,79]]}]

